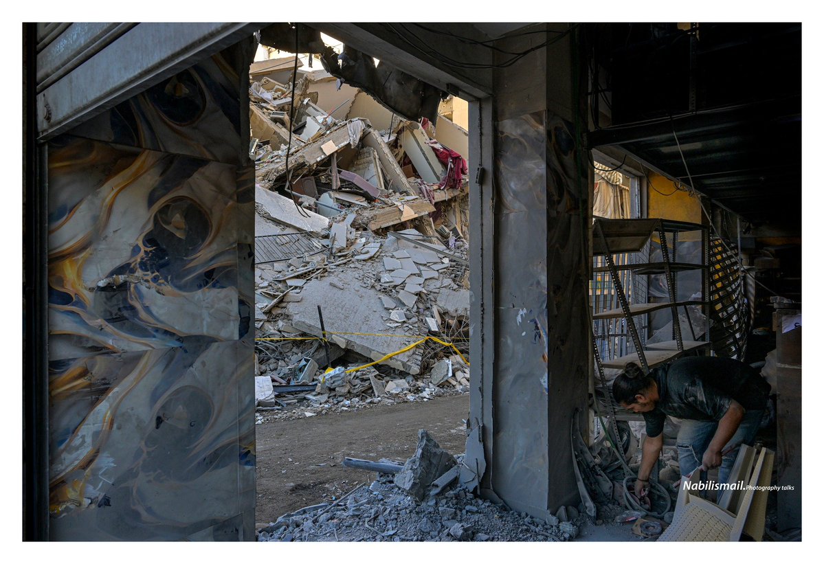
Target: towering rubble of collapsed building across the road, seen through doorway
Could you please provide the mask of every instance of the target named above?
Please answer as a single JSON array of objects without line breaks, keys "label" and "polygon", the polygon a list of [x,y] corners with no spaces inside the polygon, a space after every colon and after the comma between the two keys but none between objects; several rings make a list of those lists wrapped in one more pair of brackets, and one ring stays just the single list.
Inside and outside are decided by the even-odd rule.
[{"label": "towering rubble of collapsed building across the road, seen through doorway", "polygon": [[466,393],[466,160],[426,120],[333,117],[317,83],[250,88],[259,422]]}]

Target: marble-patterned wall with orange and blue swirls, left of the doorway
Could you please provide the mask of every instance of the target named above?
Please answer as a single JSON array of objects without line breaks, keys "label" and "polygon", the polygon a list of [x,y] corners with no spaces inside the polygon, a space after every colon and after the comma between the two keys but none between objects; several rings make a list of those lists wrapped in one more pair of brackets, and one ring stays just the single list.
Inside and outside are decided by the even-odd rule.
[{"label": "marble-patterned wall with orange and blue swirls, left of the doorway", "polygon": [[254,540],[238,44],[49,142],[53,540]]}]

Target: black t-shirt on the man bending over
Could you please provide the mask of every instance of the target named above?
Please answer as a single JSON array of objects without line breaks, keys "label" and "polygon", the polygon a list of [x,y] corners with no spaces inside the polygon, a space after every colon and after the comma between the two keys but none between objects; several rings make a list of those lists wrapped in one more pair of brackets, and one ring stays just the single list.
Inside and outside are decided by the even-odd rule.
[{"label": "black t-shirt on the man bending over", "polygon": [[731,400],[744,409],[763,409],[770,385],[743,362],[719,357],[686,357],[658,366],[650,375],[658,384],[658,403],[644,413],[647,436],[658,436],[667,415],[719,421]]}]

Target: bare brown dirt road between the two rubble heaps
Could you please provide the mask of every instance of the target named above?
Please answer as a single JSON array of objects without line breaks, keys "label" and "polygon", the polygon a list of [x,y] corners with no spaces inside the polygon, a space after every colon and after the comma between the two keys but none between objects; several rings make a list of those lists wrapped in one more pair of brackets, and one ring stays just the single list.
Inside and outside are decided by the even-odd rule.
[{"label": "bare brown dirt road between the two rubble heaps", "polygon": [[429,431],[452,454],[462,453],[462,420],[468,413],[469,394],[463,394],[256,426],[255,521],[269,524],[288,511],[371,482],[374,472],[344,468],[344,456],[405,460],[414,453],[419,429]]}]

